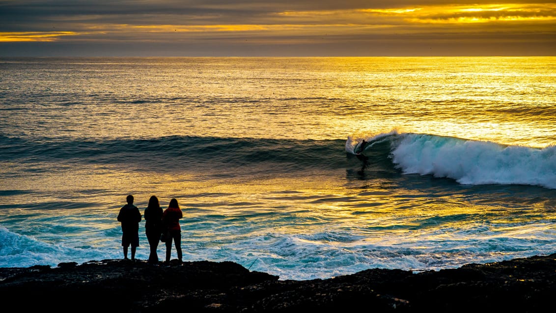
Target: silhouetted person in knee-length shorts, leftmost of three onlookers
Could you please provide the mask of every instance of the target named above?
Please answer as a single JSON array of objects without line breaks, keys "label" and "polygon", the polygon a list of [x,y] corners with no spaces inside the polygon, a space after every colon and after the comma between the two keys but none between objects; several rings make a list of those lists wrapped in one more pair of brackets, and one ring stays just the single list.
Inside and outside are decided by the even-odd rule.
[{"label": "silhouetted person in knee-length shorts, leftmost of three onlookers", "polygon": [[131,245],[131,260],[135,261],[135,250],[139,246],[139,222],[141,213],[133,205],[133,196],[126,198],[127,204],[120,209],[118,222],[122,223],[123,257],[127,260],[127,248]]}]

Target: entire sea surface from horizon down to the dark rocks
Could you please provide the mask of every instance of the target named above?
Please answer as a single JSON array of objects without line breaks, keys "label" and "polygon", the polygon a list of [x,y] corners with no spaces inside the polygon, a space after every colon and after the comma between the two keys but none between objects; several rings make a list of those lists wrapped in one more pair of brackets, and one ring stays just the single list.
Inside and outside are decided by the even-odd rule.
[{"label": "entire sea surface from horizon down to the dark rocks", "polygon": [[556,57],[0,58],[0,267],[122,258],[128,194],[280,279],[552,254],[555,145]]}]

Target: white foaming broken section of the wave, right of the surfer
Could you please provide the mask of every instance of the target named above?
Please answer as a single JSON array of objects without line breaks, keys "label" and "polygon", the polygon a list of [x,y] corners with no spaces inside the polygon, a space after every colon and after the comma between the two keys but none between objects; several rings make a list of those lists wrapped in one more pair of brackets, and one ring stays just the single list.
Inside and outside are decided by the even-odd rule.
[{"label": "white foaming broken section of the wave, right of the surfer", "polygon": [[[356,142],[348,138],[346,152]],[[531,148],[416,133],[388,133],[369,140],[365,155],[378,153],[404,174],[452,178],[464,185],[533,185],[556,189],[556,146]],[[375,150],[378,147],[378,151]]]}]

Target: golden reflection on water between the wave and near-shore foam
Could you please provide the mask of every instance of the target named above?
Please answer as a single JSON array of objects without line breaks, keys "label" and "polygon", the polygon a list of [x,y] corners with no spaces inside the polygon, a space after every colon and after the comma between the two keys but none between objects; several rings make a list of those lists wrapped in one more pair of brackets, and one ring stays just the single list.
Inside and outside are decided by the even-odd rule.
[{"label": "golden reflection on water between the wave and near-shore foam", "polygon": [[[95,175],[91,175],[93,171]],[[370,236],[371,239],[368,240],[376,240],[376,236],[379,236],[377,234],[384,232],[411,233],[417,229],[418,232],[423,232],[426,231],[427,223],[430,223],[431,228],[435,228],[436,222],[445,222],[441,221],[443,217],[450,217],[450,227],[465,229],[467,223],[476,223],[479,216],[484,218],[485,223],[489,222],[486,220],[488,213],[495,212],[498,208],[502,211],[511,210],[508,207],[500,207],[499,203],[495,202],[481,205],[480,201],[485,200],[480,198],[478,203],[470,205],[469,201],[475,200],[466,199],[466,196],[457,190],[436,194],[420,187],[389,189],[380,183],[372,182],[360,186],[356,181],[346,181],[341,175],[291,175],[279,178],[261,176],[257,180],[252,178],[209,179],[187,172],[118,172],[115,168],[100,170],[92,167],[82,168],[71,176],[58,172],[33,178],[37,186],[49,186],[49,189],[44,190],[41,195],[36,195],[36,199],[33,195],[23,195],[14,196],[12,200],[14,203],[90,202],[95,203],[95,206],[85,206],[80,212],[92,210],[96,212],[91,213],[97,214],[100,213],[98,211],[106,210],[105,217],[111,219],[112,213],[116,213],[125,204],[128,193],[135,196],[135,205],[140,207],[141,211],[146,207],[148,198],[156,195],[163,208],[171,198],[177,198],[188,218],[205,215],[256,218],[257,215],[261,215],[261,218],[268,219],[269,225],[275,223],[276,230],[284,233],[299,232],[299,228],[291,221],[282,221],[283,216],[299,218],[302,225],[314,228],[333,229],[334,221],[337,221],[340,231],[345,225],[359,227],[362,233]],[[68,181],[72,182],[71,186],[68,186]],[[28,183],[26,180],[21,182]],[[14,190],[23,187],[17,186],[16,181],[10,184]],[[87,190],[89,192],[85,193]],[[105,207],[102,207],[102,203]],[[527,210],[544,210],[544,203],[532,203]],[[57,210],[54,206],[49,214],[56,215],[56,212],[63,216],[66,209]],[[272,212],[275,212],[276,216],[264,215]],[[523,222],[520,218],[529,221],[532,218],[504,214],[508,215],[508,220],[498,219],[498,223],[517,223]],[[101,217],[97,228],[106,227],[106,220]]]}]

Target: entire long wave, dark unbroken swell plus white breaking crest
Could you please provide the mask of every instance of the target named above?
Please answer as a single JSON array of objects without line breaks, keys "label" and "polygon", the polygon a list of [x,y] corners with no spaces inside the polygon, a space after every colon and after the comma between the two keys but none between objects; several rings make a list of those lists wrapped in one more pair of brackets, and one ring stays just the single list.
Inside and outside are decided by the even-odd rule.
[{"label": "entire long wave, dark unbroken swell plus white breaking crest", "polygon": [[[397,132],[368,141],[364,151],[368,157],[365,170],[368,177],[394,171],[451,178],[464,185],[532,185],[556,189],[554,146],[504,146]],[[107,164],[156,172],[290,173],[359,168],[360,160],[353,156],[355,143],[350,137],[344,142],[193,136],[29,140],[0,136],[0,161]]]}]

